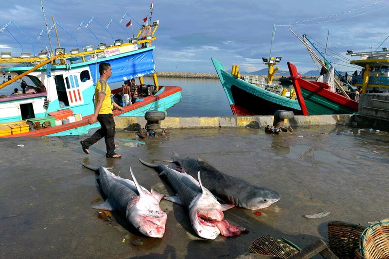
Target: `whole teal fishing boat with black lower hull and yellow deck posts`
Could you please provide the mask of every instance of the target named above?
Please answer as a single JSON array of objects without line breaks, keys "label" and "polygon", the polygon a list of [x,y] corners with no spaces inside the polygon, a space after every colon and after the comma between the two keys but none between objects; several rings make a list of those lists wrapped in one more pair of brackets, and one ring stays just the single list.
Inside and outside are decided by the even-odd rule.
[{"label": "whole teal fishing boat with black lower hull and yellow deck posts", "polygon": [[294,99],[295,96],[290,94],[286,97],[286,88],[272,84],[273,76],[278,69],[273,71],[273,65],[276,64],[274,57],[267,62],[270,75],[267,83],[263,77],[240,76],[238,65],[233,65],[229,73],[220,61],[212,58],[212,63],[226,92],[233,115],[274,115],[274,112],[280,109],[301,114],[301,108],[299,102]]}]

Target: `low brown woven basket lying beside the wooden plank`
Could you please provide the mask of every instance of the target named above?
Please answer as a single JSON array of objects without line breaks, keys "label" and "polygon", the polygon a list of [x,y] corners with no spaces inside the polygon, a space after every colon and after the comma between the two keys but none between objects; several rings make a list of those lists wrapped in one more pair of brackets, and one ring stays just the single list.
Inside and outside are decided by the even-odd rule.
[{"label": "low brown woven basket lying beside the wooden plank", "polygon": [[248,249],[254,254],[277,256],[280,258],[289,258],[299,252],[288,243],[270,236],[257,238],[250,244]]}]

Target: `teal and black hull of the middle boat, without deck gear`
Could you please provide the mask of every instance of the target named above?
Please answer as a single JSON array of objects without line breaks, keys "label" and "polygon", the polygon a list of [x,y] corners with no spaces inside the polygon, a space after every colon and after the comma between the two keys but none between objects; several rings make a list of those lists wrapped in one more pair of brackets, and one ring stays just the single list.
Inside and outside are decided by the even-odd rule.
[{"label": "teal and black hull of the middle boat, without deck gear", "polygon": [[301,114],[297,100],[283,97],[252,85],[226,72],[221,62],[212,58],[213,66],[226,92],[232,113],[240,115],[274,115],[276,110],[290,110]]}]

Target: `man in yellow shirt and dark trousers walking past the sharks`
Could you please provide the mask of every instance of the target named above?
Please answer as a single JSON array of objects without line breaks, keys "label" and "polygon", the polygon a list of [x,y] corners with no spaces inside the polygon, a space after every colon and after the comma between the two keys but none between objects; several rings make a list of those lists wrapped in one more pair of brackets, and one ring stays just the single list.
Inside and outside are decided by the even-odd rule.
[{"label": "man in yellow shirt and dark trousers walking past the sharks", "polygon": [[99,72],[100,78],[97,81],[95,89],[94,114],[88,120],[88,123],[93,124],[99,121],[101,128],[90,138],[80,142],[82,150],[86,154],[89,154],[88,148],[98,140],[104,138],[106,141],[106,157],[120,158],[122,155],[115,153],[115,121],[113,121],[112,109],[116,107],[120,112],[124,112],[124,108],[113,101],[111,89],[106,82],[112,75],[111,65],[109,63],[100,63]]}]

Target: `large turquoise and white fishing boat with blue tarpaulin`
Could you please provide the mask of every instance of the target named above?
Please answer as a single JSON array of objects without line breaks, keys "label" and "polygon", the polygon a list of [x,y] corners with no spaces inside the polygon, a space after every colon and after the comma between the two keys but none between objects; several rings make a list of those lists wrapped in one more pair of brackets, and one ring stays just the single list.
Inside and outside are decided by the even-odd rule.
[{"label": "large turquoise and white fishing boat with blue tarpaulin", "polygon": [[[128,42],[118,39],[112,44],[99,43],[97,48],[89,45],[82,51],[77,48],[66,52],[58,40],[59,46],[53,52],[21,53],[18,57],[1,52],[0,63],[7,67],[1,69],[5,80],[0,88],[20,84],[23,90],[0,96],[0,136],[67,136],[86,134],[90,128],[99,127],[99,123],[89,125],[88,119],[94,113],[94,90],[102,62],[112,68],[108,84],[132,78],[138,78],[140,83],[139,102],[122,104],[124,113],[114,110],[113,116],[144,116],[149,110],[166,112],[179,103],[179,86],[158,84],[152,46],[158,26],[159,21],[145,22]],[[145,85],[143,76],[150,74],[154,85]],[[122,87],[112,89],[116,102],[122,101],[121,90]]]}]

